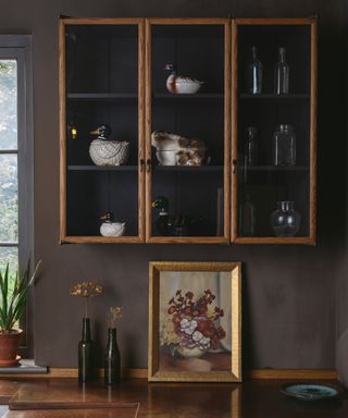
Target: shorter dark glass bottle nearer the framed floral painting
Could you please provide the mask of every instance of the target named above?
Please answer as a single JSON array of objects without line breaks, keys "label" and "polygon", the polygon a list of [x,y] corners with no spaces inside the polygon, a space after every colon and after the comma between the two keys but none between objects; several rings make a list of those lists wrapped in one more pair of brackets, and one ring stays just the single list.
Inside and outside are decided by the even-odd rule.
[{"label": "shorter dark glass bottle nearer the framed floral painting", "polygon": [[107,385],[121,381],[121,355],[117,345],[117,330],[108,329],[108,345],[104,358],[104,382]]}]

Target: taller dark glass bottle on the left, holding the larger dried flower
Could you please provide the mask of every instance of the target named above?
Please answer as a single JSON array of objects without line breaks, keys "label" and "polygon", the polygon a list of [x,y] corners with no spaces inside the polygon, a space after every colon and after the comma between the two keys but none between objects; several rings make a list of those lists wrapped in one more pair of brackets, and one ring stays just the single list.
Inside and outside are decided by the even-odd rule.
[{"label": "taller dark glass bottle on the left, holding the larger dried flower", "polygon": [[78,381],[87,382],[95,377],[94,343],[90,339],[89,318],[83,320],[83,337],[78,343]]}]

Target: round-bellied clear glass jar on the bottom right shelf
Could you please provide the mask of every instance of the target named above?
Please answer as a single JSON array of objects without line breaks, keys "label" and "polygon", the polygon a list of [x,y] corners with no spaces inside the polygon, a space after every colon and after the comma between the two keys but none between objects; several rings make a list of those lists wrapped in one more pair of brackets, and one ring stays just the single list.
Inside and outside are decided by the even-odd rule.
[{"label": "round-bellied clear glass jar on the bottom right shelf", "polygon": [[294,209],[294,201],[276,202],[277,209],[271,214],[271,226],[276,236],[295,236],[301,223],[300,214]]}]

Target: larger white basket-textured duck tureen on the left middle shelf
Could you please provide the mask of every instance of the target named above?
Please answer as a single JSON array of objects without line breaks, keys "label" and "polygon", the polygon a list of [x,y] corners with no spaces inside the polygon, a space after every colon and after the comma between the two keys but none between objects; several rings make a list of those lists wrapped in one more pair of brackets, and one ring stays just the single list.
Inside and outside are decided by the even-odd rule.
[{"label": "larger white basket-textured duck tureen on the left middle shelf", "polygon": [[129,157],[129,143],[126,140],[110,140],[111,128],[108,125],[98,126],[90,134],[98,135],[89,146],[89,156],[96,165],[126,164]]}]

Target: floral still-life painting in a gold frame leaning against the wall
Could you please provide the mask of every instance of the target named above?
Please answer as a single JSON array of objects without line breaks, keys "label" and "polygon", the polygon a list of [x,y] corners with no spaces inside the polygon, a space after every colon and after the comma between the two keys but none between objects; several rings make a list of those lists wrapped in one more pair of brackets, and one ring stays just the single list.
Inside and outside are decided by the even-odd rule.
[{"label": "floral still-life painting in a gold frame leaning against the wall", "polygon": [[150,262],[149,381],[241,381],[239,262]]}]

